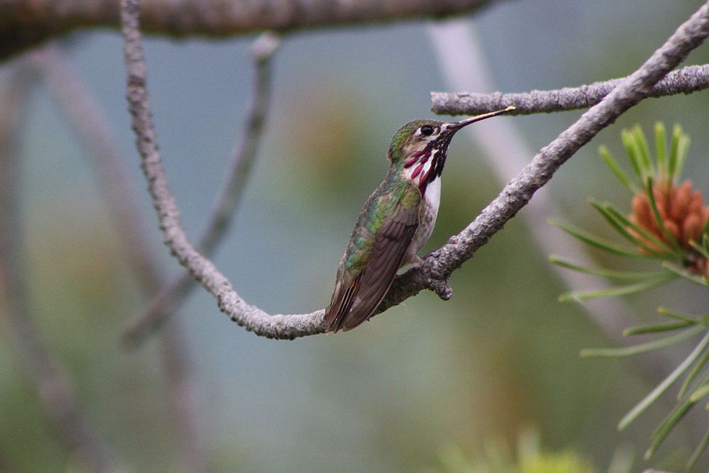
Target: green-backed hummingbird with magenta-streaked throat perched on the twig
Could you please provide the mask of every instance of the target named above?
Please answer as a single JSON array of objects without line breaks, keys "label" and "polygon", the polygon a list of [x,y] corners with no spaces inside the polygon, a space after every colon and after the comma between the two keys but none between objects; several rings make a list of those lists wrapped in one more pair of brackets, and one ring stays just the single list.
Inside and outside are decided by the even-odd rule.
[{"label": "green-backed hummingbird with magenta-streaked throat perched on the twig", "polygon": [[389,172],[362,207],[340,260],[335,291],[325,308],[325,332],[351,330],[367,321],[398,269],[422,261],[418,251],[436,222],[440,177],[453,135],[514,109],[453,122],[413,120],[394,133],[386,153]]}]

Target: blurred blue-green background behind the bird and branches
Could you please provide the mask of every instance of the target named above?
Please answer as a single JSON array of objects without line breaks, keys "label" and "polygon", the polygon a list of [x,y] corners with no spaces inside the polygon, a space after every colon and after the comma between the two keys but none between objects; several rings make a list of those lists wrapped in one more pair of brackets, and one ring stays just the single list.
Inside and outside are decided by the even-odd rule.
[{"label": "blurred blue-green background behind the bird and branches", "polygon": [[[701,3],[501,1],[470,21],[496,89],[555,89],[629,74]],[[447,88],[427,26],[407,21],[284,38],[262,152],[215,258],[251,304],[301,313],[328,303],[354,218],[386,172],[392,133],[411,118],[432,116],[430,91]],[[193,237],[240,134],[252,39],[147,40],[160,147]],[[116,31],[78,33],[61,43],[108,114],[152,238],[147,244],[167,277],[180,268],[160,243],[138,169],[121,46]],[[705,45],[687,64],[706,62]],[[709,191],[708,110],[706,92],[632,108],[542,189],[562,208],[553,217],[603,233],[587,197],[629,207],[597,148],[605,143],[622,156],[620,129],[635,123],[646,130],[658,120],[681,123],[693,139],[685,175]],[[500,119],[512,120],[538,150],[580,113]],[[86,150],[41,85],[30,102],[22,151],[23,248],[43,340],[72,375],[83,411],[125,471],[179,471],[160,347],[151,340],[131,352],[119,343],[145,301],[125,266],[120,232],[106,216]],[[476,146],[456,138],[428,249],[445,243],[496,196],[504,183],[491,176]],[[569,237],[559,231],[557,238]],[[575,452],[596,471],[605,471],[619,449],[635,456],[634,471],[647,466],[642,452],[673,394],[623,433],[615,425],[664,373],[643,366],[642,358],[579,358],[584,347],[614,342],[583,307],[557,302],[568,288],[522,219],[479,250],[451,284],[450,301],[422,293],[350,333],[290,342],[247,333],[219,313],[211,296],[195,291],[178,318],[211,470],[445,471],[460,458],[457,464],[480,464],[492,444],[514,450],[520,432],[530,428],[544,450]],[[656,320],[659,304],[706,307],[705,296],[683,284],[627,302],[642,321]],[[0,456],[11,471],[71,469],[10,337],[0,329]],[[677,468],[697,442],[696,432],[678,430],[653,464]]]}]

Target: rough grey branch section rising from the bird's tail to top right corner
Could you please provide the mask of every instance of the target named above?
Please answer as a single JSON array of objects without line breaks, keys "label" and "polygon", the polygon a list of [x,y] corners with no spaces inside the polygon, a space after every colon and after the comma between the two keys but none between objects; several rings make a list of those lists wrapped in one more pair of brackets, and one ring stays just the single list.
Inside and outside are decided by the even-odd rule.
[{"label": "rough grey branch section rising from the bird's tail to top right corner", "polygon": [[639,69],[620,82],[613,91],[535,155],[532,162],[512,179],[480,215],[425,259],[425,265],[408,270],[394,286],[380,308],[387,308],[420,291],[429,279],[447,279],[479,247],[503,228],[554,172],[583,145],[591,141],[628,108],[646,98],[665,74],[679,65],[709,35],[709,1],[700,6],[652,53]]}]

